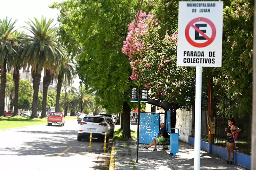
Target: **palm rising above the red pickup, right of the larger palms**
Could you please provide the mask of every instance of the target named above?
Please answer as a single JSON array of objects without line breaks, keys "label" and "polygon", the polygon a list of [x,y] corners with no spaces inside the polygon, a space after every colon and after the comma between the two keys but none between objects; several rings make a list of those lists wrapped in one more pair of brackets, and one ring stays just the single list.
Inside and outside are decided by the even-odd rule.
[{"label": "palm rising above the red pickup, right of the larger palms", "polygon": [[[66,82],[68,85],[72,84],[74,82],[74,79],[76,78],[76,70],[74,65],[74,60],[70,59],[71,62],[67,63],[67,67],[64,68],[63,66],[60,68],[59,74],[55,74],[53,77],[54,81],[58,81],[57,83],[57,96],[56,96],[56,105],[55,105],[55,111],[59,112],[60,110],[60,91],[61,87],[64,87],[65,94],[67,91]],[[64,80],[64,83],[63,83]],[[66,110],[64,110],[64,114]],[[67,113],[66,113],[67,114]]]}]

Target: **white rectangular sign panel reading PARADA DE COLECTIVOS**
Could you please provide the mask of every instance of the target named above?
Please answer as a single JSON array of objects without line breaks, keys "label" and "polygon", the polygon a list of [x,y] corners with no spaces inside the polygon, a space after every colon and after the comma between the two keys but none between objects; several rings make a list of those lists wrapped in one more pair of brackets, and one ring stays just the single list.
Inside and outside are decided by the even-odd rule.
[{"label": "white rectangular sign panel reading PARADA DE COLECTIVOS", "polygon": [[177,66],[221,67],[222,1],[179,2]]}]

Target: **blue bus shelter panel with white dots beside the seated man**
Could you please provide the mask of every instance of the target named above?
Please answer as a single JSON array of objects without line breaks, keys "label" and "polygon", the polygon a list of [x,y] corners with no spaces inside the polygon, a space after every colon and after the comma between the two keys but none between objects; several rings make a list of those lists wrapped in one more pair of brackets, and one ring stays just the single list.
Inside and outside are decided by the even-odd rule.
[{"label": "blue bus shelter panel with white dots beside the seated man", "polygon": [[140,113],[139,143],[151,143],[159,132],[159,114]]}]

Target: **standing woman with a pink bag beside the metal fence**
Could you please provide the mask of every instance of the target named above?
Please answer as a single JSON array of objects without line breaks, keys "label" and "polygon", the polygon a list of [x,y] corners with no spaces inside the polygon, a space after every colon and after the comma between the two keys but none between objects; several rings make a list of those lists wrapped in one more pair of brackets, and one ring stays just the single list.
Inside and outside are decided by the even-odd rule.
[{"label": "standing woman with a pink bag beside the metal fence", "polygon": [[[225,131],[227,132],[227,150],[228,150],[228,159],[227,159],[226,163],[232,165],[232,164],[234,164],[234,155],[235,155],[235,153],[234,153],[234,145],[235,145],[234,135],[235,135],[235,133],[240,132],[241,129],[239,129],[235,126],[235,119],[232,118],[232,119],[228,120],[228,128],[225,128]],[[231,157],[232,157],[231,161],[229,161],[230,152],[231,152]]]}]

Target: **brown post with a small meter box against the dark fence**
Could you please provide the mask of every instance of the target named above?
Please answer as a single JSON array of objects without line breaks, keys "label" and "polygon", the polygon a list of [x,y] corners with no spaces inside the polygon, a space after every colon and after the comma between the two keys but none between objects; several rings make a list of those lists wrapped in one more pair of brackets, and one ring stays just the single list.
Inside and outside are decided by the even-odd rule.
[{"label": "brown post with a small meter box against the dark fence", "polygon": [[213,117],[213,82],[212,79],[208,79],[208,153],[212,153],[214,139],[213,134],[210,132],[215,132],[215,127],[209,126],[211,117]]}]

